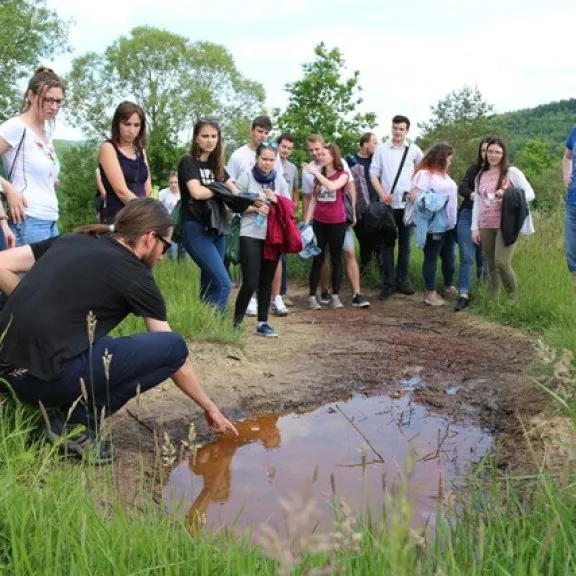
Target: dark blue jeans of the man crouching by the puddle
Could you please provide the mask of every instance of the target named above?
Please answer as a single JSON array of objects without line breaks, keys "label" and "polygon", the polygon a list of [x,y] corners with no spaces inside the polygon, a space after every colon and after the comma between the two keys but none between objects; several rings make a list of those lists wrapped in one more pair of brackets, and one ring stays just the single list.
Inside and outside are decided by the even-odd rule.
[{"label": "dark blue jeans of the man crouching by the puddle", "polygon": [[[111,356],[109,379],[106,379],[103,357]],[[57,380],[45,382],[34,376],[7,376],[16,396],[25,404],[72,410],[70,422],[96,430],[105,410],[108,417],[117,412],[137,390],[146,392],[178,371],[188,357],[186,342],[175,332],[136,334],[124,338],[104,336],[90,352],[64,363]],[[92,365],[91,365],[92,364]],[[82,397],[80,379],[84,380],[88,399]]]}]

